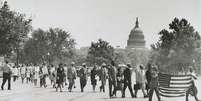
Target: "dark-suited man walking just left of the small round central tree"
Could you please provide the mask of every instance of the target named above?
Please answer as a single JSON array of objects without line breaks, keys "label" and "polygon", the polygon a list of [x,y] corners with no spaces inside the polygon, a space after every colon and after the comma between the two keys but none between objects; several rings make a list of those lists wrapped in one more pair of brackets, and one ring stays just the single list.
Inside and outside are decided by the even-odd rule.
[{"label": "dark-suited man walking just left of the small round central tree", "polygon": [[84,92],[84,87],[87,84],[87,68],[86,64],[82,64],[82,68],[80,69],[80,88],[81,92]]}]

